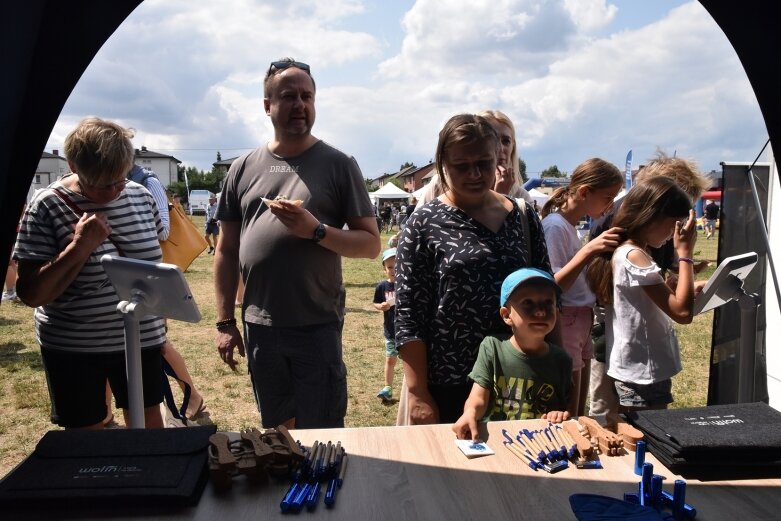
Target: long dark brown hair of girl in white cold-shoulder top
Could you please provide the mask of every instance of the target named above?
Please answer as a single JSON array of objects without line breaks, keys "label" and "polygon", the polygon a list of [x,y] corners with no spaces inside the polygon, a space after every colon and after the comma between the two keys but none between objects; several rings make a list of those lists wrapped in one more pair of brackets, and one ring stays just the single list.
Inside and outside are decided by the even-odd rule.
[{"label": "long dark brown hair of girl in white cold-shoulder top", "polygon": [[[653,177],[632,187],[621,202],[613,226],[624,229],[621,243],[639,240],[647,228],[667,217],[684,219],[692,207],[686,192],[668,177]],[[591,291],[602,305],[613,303],[613,252],[594,257],[586,271]]]}]

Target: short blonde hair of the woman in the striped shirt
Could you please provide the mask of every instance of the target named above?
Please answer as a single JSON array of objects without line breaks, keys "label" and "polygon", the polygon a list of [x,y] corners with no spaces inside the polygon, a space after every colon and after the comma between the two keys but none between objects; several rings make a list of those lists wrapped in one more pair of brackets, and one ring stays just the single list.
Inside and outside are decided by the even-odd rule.
[{"label": "short blonde hair of the woman in the striped shirt", "polygon": [[85,118],[65,138],[65,158],[87,184],[111,184],[126,176],[133,166],[132,137],[131,129],[112,121]]}]

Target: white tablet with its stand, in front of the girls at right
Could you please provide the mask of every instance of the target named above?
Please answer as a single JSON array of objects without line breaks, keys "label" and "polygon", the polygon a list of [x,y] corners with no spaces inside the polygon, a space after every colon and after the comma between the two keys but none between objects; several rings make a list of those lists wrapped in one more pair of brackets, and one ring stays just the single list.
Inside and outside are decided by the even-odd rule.
[{"label": "white tablet with its stand, in front of the girls at right", "polygon": [[694,301],[694,314],[710,311],[735,300],[740,306],[740,360],[738,368],[738,402],[754,401],[754,368],[756,366],[757,307],[759,295],[746,293],[743,280],[757,263],[754,252],[727,257]]}]

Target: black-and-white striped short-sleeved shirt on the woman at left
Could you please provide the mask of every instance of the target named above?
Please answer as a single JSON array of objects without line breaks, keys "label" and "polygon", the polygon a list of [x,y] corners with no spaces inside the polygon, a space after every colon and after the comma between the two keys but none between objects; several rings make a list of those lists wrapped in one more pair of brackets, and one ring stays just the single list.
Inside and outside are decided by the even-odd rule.
[{"label": "black-and-white striped short-sleeved shirt on the woman at left", "polygon": [[[126,257],[160,262],[163,226],[152,195],[129,182],[110,203],[97,204],[69,190],[60,181],[39,191],[22,218],[14,259],[48,262],[73,240],[79,217],[52,190],[57,188],[88,213],[103,213],[113,239]],[[117,311],[119,297],[100,264],[100,257],[118,255],[106,239],[90,255],[76,279],[55,300],[35,309],[35,329],[41,346],[65,351],[115,352],[125,348],[124,323]],[[141,348],[165,341],[161,318],[145,317],[139,327]]]}]

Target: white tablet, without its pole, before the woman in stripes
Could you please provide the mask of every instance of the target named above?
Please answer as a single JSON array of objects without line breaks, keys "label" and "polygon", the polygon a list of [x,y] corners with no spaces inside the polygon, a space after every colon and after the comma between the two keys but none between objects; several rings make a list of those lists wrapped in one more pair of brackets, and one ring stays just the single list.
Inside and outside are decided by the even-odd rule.
[{"label": "white tablet, without its pole, before the woman in stripes", "polygon": [[100,262],[120,300],[139,300],[147,315],[184,322],[201,320],[178,266],[111,255],[104,255]]}]

